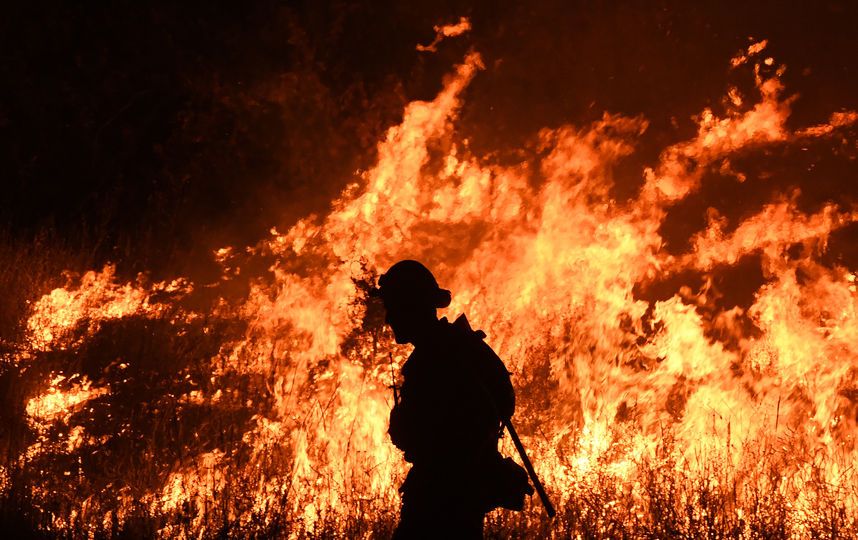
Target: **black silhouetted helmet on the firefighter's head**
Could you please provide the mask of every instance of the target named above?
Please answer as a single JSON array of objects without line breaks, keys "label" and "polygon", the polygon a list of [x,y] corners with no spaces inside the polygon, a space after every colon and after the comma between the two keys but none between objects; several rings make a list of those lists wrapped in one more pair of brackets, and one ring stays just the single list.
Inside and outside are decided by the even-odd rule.
[{"label": "black silhouetted helmet on the firefighter's head", "polygon": [[450,305],[450,291],[438,286],[435,276],[417,261],[399,261],[378,278],[373,296],[385,302],[431,305],[445,308]]}]

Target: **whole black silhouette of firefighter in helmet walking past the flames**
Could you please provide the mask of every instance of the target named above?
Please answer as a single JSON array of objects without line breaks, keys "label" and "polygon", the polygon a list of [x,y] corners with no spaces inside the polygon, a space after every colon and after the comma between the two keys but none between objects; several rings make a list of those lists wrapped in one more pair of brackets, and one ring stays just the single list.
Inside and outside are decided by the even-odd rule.
[{"label": "whole black silhouette of firefighter in helmet walking past the flames", "polygon": [[524,469],[498,452],[501,419],[515,409],[509,372],[464,315],[438,319],[451,295],[425,266],[400,261],[378,284],[396,342],[414,345],[388,430],[412,464],[393,537],[482,538],[486,512],[520,510],[533,493]]}]

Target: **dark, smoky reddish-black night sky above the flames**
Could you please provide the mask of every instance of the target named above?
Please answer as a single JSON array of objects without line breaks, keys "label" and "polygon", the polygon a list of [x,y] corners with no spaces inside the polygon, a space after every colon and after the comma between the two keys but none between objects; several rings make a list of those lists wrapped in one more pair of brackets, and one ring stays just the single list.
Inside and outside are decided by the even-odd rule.
[{"label": "dark, smoky reddish-black night sky above the flames", "polygon": [[[87,253],[81,264],[114,261],[126,273],[193,271],[188,261],[215,247],[324,213],[372,164],[404,104],[431,99],[470,49],[487,69],[466,92],[459,133],[477,155],[532,159],[539,129],[604,111],[651,122],[616,171],[618,200],[634,197],[661,149],[694,133],[695,114],[723,111],[729,85],[752,90],[748,70],[729,70],[751,38],[768,39],[787,65],[787,93],[799,95],[793,127],[858,109],[858,4],[847,1],[115,1],[4,11],[0,239],[49,238]],[[433,25],[463,15],[469,34],[435,54],[415,50]],[[812,171],[802,159],[771,158],[784,183],[809,186],[805,204],[854,200],[852,157]],[[704,184],[673,211],[668,247],[682,249],[713,199],[768,198],[722,189]]]}]

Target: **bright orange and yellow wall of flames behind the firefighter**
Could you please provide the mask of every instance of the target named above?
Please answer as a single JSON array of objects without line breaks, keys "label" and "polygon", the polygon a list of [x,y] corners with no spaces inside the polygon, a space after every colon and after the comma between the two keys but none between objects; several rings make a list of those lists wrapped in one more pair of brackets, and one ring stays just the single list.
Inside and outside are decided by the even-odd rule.
[{"label": "bright orange and yellow wall of flames behind the firefighter", "polygon": [[[68,496],[48,485],[55,480],[30,485],[45,528],[87,536],[142,513],[159,516],[152,533],[165,537],[213,536],[225,522],[234,534],[389,532],[405,471],[386,434],[389,359],[398,369],[408,351],[382,329],[361,280],[403,258],[432,268],[453,291],[444,314],[467,313],[513,372],[514,420],[559,510],[549,523],[534,499],[523,518],[493,514],[490,530],[562,536],[586,523],[601,536],[619,535],[617,524],[658,534],[659,520],[670,520],[653,510],[663,504],[654,493],[674,497],[668,506],[681,515],[672,519],[688,534],[711,526],[753,536],[772,508],[796,537],[830,519],[824,508],[856,515],[856,275],[821,258],[858,209],[807,214],[797,193],[783,193],[740,222],[710,210],[684,254],[668,253],[659,234],[668,208],[697,192],[707,171],[721,171],[722,182],[759,181],[733,171],[738,152],[845,138],[858,123],[858,113],[841,111],[788,128],[785,68],[761,69],[773,63],[764,41],[734,58],[733,69],[754,70],[757,95],[730,89],[726,113],[703,110],[697,134],[665,148],[640,171],[638,197],[620,202],[614,167],[635,152],[647,119],[605,113],[544,129],[538,162],[493,163],[456,134],[463,90],[485,69],[470,53],[434,100],[408,104],[375,166],[328,215],[219,250],[219,281],[122,283],[107,267],[45,295],[27,323],[21,366],[91,352],[110,321],[163,323],[215,345],[187,352],[199,353],[199,368],[177,372],[182,392],[161,396],[153,414],[167,424],[195,407],[240,418],[221,434],[197,422],[199,431],[181,435],[190,441],[181,458],[149,474],[137,461],[157,461],[156,446],[122,450],[112,434],[88,433],[82,418],[112,414],[111,396],[142,384],[134,370],[161,361],[161,349],[98,360],[96,371],[128,373],[110,385],[93,366],[52,375],[26,406],[41,435],[18,466],[68,456],[78,487],[71,503],[55,504]],[[267,271],[245,270],[261,261]],[[748,261],[763,284],[749,306],[722,307],[714,274]],[[687,273],[702,285],[660,300],[638,293]],[[134,422],[121,425],[134,431]],[[166,441],[181,429],[148,433]],[[119,451],[140,452],[135,468],[106,480],[80,459]],[[701,493],[721,497],[722,514]]]}]

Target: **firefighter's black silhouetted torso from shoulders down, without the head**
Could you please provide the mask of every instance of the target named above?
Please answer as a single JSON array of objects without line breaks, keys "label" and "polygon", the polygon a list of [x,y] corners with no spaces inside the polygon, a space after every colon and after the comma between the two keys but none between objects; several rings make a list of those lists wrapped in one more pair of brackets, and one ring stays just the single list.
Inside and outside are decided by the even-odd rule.
[{"label": "firefighter's black silhouetted torso from shoulders down, without the head", "polygon": [[[492,503],[501,416],[515,398],[503,362],[464,316],[437,321],[402,368],[390,436],[413,464],[396,538],[476,537]],[[451,536],[454,534],[455,536]]]}]

